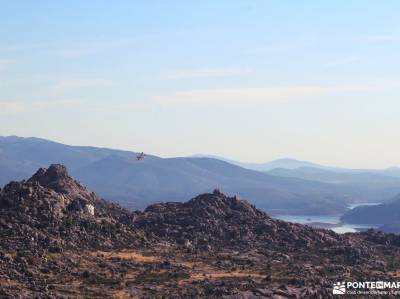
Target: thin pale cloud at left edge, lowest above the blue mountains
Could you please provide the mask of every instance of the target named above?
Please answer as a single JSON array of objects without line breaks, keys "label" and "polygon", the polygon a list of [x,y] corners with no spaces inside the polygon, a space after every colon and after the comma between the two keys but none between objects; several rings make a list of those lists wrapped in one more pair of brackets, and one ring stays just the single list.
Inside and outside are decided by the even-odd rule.
[{"label": "thin pale cloud at left edge, lowest above the blue mountains", "polygon": [[39,109],[61,108],[80,105],[80,99],[61,99],[47,101],[0,101],[0,114],[13,115]]}]

